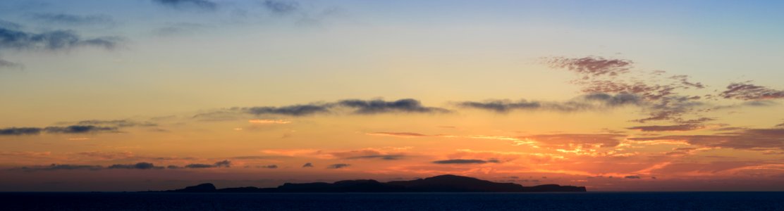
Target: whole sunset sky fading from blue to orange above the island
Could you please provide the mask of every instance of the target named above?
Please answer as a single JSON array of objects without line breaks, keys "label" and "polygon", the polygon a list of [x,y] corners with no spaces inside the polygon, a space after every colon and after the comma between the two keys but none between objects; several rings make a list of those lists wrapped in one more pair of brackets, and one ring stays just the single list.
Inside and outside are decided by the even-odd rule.
[{"label": "whole sunset sky fading from blue to orange above the island", "polygon": [[782,5],[5,0],[0,191],[784,191]]}]

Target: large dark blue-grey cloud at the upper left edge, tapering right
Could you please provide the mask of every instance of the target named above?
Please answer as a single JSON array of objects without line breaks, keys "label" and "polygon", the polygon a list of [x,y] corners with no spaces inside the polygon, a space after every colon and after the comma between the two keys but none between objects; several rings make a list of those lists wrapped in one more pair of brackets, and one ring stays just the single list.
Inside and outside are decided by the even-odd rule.
[{"label": "large dark blue-grey cloud at the upper left edge, tapering right", "polygon": [[40,34],[0,27],[0,50],[61,50],[82,46],[114,49],[120,38],[84,39],[72,30],[53,30]]}]

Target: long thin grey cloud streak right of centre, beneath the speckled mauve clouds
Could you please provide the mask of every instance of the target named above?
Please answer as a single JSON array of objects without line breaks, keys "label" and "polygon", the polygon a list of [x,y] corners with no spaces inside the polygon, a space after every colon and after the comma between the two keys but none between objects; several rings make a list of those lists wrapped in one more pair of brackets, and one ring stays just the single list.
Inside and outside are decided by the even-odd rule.
[{"label": "long thin grey cloud streak right of centre, beneath the speckled mauve clouds", "polygon": [[591,93],[582,95],[566,102],[529,102],[525,99],[514,102],[506,100],[488,100],[485,102],[458,102],[457,105],[470,109],[484,109],[496,113],[509,113],[513,110],[550,110],[558,112],[575,112],[584,110],[610,109],[622,105],[639,105],[641,98],[637,95],[620,93],[608,95]]}]

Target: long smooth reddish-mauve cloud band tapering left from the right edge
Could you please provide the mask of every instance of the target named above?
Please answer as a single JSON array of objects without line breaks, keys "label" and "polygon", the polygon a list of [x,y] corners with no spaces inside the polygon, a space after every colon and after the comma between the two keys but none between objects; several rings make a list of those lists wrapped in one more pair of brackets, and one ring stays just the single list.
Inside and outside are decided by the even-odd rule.
[{"label": "long smooth reddish-mauve cloud band tapering left from the right edge", "polygon": [[629,138],[633,141],[687,141],[690,145],[736,149],[784,149],[784,128],[743,129],[711,135]]}]

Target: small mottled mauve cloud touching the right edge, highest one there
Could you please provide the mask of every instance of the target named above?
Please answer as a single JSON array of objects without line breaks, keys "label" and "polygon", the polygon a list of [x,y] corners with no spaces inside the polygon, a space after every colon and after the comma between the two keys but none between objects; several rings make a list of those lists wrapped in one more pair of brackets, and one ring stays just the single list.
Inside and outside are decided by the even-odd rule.
[{"label": "small mottled mauve cloud touching the right edge, highest one there", "polygon": [[763,86],[750,84],[750,81],[746,81],[729,84],[727,90],[722,91],[719,96],[723,98],[759,101],[784,98],[784,91],[765,88]]}]

